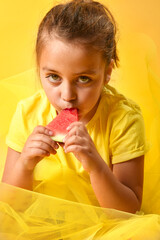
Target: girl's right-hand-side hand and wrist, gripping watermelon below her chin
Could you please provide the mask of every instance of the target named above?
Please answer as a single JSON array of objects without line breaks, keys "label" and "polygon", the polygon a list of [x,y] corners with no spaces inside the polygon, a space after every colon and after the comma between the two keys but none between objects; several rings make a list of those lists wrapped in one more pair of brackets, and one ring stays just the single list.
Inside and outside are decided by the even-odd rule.
[{"label": "girl's right-hand-side hand and wrist, gripping watermelon below her chin", "polygon": [[74,122],[67,130],[69,132],[64,138],[65,152],[72,152],[89,173],[102,168],[104,161],[99,155],[85,125],[82,122]]}]

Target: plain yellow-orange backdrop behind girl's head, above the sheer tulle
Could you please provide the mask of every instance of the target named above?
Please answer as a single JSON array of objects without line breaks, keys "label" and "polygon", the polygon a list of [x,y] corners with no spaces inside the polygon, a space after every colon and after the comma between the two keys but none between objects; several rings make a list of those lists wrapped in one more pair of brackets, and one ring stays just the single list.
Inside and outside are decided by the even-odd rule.
[{"label": "plain yellow-orange backdrop behind girl's head, above the sheer tulle", "polygon": [[[53,3],[51,0],[0,1],[0,80],[34,65],[37,25]],[[160,1],[105,0],[118,22],[120,32],[141,32],[153,39],[160,56]],[[129,44],[129,43],[128,43]]]}]

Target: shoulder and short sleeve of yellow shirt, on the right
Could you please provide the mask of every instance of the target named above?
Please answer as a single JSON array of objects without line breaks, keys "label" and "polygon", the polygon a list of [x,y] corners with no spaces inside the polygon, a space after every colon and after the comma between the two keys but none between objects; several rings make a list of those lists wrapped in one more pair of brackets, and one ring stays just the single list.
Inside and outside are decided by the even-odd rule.
[{"label": "shoulder and short sleeve of yellow shirt, on the right", "polygon": [[107,127],[112,163],[144,155],[147,142],[140,107],[110,86],[104,94],[109,105]]}]

